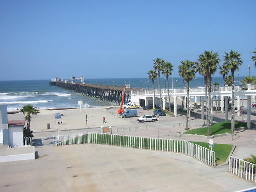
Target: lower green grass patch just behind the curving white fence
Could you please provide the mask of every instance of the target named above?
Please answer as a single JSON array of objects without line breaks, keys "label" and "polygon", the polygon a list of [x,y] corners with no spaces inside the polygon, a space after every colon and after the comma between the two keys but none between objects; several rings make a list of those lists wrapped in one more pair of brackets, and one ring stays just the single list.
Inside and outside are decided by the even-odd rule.
[{"label": "lower green grass patch just behind the curving white fence", "polygon": [[[202,147],[210,149],[209,143],[195,142],[195,141],[191,141],[191,143],[198,144]],[[233,147],[233,145],[231,145],[231,144],[214,144],[214,147],[212,148],[212,150],[215,151],[216,165],[226,162],[226,160],[229,157],[229,154],[232,150],[232,147]]]}]

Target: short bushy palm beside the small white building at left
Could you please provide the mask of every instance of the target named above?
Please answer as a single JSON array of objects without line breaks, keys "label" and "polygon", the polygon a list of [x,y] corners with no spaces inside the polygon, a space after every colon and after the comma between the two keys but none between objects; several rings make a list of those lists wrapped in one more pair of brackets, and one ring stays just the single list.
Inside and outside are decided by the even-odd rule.
[{"label": "short bushy palm beside the small white building at left", "polygon": [[30,131],[30,122],[31,122],[31,115],[37,115],[39,110],[36,109],[37,107],[33,107],[33,105],[24,105],[21,108],[21,112],[25,114],[25,120],[26,120],[26,129],[24,129],[24,136],[26,137],[33,137],[32,132]]}]

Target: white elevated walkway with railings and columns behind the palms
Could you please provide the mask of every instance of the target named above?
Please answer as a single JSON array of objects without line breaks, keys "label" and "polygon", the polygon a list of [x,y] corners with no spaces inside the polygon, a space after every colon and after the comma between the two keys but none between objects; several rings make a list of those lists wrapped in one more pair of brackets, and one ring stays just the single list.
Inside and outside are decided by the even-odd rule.
[{"label": "white elevated walkway with railings and columns behind the palms", "polygon": [[[162,98],[163,98],[163,108],[167,105],[168,102],[168,94],[167,90],[163,89],[162,92]],[[170,89],[170,96],[172,100],[172,104],[174,106],[174,115],[177,116],[177,101],[181,97],[186,97],[187,93],[185,89]],[[159,91],[155,91],[155,100],[156,105],[160,105],[160,94]],[[231,87],[230,86],[224,86],[220,87],[218,89],[215,89],[211,93],[211,115],[213,114],[213,99],[220,98],[218,101],[218,105],[221,107],[221,112],[224,113],[224,100],[225,100],[225,111],[228,111],[228,99],[227,97],[230,96],[231,98]],[[252,102],[255,103],[255,97],[256,97],[256,86],[254,85],[246,85],[246,86],[235,86],[234,88],[234,96],[237,100],[236,106],[237,106],[237,115],[240,115],[240,111],[247,112],[247,126],[250,129],[251,127],[251,105]],[[191,88],[190,89],[190,99],[194,98],[194,102],[197,102],[197,100],[200,102],[201,105],[201,118],[204,119],[204,102],[205,102],[205,88]],[[224,99],[225,98],[225,99]],[[244,98],[246,98],[246,103],[244,101],[243,105],[241,106],[241,102]],[[133,103],[140,103],[142,106],[153,104],[153,90],[141,90],[141,91],[132,91],[131,92],[131,101]],[[244,106],[247,106],[246,109]],[[211,120],[213,122],[213,116],[211,117]],[[228,120],[228,113],[226,113],[225,120]]]}]

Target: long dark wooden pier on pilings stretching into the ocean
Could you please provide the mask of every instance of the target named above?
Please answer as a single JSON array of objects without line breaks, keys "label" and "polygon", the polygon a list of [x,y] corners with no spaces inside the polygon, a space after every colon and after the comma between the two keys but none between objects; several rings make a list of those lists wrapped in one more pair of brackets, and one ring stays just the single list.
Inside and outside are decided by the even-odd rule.
[{"label": "long dark wooden pier on pilings stretching into the ocean", "polygon": [[[113,103],[120,103],[122,98],[122,86],[109,86],[101,84],[82,84],[72,83],[65,81],[49,82],[50,85],[56,85],[65,89],[69,89],[73,92],[81,93],[82,95],[98,98],[99,100],[109,101]],[[131,100],[132,88],[127,88],[125,93],[124,103],[128,103]]]}]

